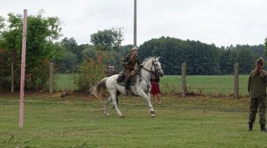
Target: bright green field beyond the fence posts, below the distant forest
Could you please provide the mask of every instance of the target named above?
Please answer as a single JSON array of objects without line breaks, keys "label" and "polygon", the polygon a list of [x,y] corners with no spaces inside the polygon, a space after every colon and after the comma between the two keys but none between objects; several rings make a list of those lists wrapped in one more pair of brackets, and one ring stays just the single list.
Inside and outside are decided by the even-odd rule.
[{"label": "bright green field beyond the fence posts, below the distant forest", "polygon": [[[248,75],[239,76],[239,94],[246,96]],[[187,91],[194,94],[226,95],[233,94],[233,75],[187,75]],[[57,75],[56,89],[77,89],[71,75]],[[163,94],[181,93],[181,76],[164,75],[160,82]]]}]

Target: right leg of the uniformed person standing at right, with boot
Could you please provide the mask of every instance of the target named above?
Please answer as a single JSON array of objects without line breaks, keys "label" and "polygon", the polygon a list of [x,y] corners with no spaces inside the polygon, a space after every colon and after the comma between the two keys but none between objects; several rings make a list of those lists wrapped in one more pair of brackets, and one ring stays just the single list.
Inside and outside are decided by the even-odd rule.
[{"label": "right leg of the uniformed person standing at right, with boot", "polygon": [[261,131],[266,131],[266,97],[259,98],[259,124],[261,125]]}]

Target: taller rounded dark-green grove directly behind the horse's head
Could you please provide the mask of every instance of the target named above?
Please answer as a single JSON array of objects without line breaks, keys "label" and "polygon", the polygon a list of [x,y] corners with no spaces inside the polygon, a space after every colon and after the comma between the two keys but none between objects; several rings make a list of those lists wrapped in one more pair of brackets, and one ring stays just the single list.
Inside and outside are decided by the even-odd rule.
[{"label": "taller rounded dark-green grove directly behind the horse's head", "polygon": [[141,59],[161,56],[161,66],[167,75],[180,75],[183,62],[189,75],[220,73],[217,47],[199,41],[161,37],[140,45],[139,51]]}]

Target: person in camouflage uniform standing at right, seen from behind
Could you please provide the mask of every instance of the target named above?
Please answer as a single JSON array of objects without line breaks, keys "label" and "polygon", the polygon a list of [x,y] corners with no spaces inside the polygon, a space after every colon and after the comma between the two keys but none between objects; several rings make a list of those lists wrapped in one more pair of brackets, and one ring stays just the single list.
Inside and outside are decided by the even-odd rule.
[{"label": "person in camouflage uniform standing at right, seen from behind", "polygon": [[256,118],[257,109],[259,107],[259,124],[261,131],[266,132],[266,85],[267,85],[267,72],[262,68],[264,67],[264,59],[259,58],[255,64],[256,68],[250,73],[247,90],[250,93],[250,117],[249,117],[249,131],[252,131],[253,124]]}]

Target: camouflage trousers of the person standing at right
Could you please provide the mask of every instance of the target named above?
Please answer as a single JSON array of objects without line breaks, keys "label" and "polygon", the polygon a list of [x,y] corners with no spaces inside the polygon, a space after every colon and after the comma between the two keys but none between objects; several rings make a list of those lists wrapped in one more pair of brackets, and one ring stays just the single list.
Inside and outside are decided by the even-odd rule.
[{"label": "camouflage trousers of the person standing at right", "polygon": [[259,107],[259,124],[266,124],[265,112],[266,112],[266,96],[250,98],[250,117],[249,124],[253,124],[256,119],[257,110]]}]

